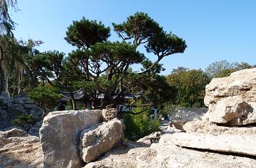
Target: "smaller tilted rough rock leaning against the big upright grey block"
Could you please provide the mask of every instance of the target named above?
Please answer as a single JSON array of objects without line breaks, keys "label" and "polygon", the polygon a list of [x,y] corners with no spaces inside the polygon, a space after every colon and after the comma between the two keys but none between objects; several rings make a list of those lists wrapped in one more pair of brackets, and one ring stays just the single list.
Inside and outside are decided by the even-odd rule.
[{"label": "smaller tilted rough rock leaning against the big upright grey block", "polygon": [[123,136],[123,123],[114,118],[97,128],[88,128],[80,136],[80,156],[84,162],[92,162],[106,153]]}]

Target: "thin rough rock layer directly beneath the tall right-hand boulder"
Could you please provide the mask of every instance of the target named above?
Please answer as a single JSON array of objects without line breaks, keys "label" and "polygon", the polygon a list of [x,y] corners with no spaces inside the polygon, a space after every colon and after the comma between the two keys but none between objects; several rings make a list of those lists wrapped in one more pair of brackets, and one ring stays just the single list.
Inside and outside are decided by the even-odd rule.
[{"label": "thin rough rock layer directly beneath the tall right-hand boulder", "polygon": [[225,127],[218,126],[215,123],[193,121],[187,122],[184,126],[184,131],[187,133],[208,133],[213,135],[241,135],[241,136],[256,136],[256,127],[253,125],[247,125],[243,127]]}]

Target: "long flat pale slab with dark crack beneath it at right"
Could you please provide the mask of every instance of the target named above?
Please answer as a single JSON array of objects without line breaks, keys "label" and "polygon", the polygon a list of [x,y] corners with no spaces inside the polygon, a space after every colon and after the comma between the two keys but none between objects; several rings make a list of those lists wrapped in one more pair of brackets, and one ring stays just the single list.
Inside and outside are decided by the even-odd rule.
[{"label": "long flat pale slab with dark crack beneath it at right", "polygon": [[177,146],[256,156],[256,136],[218,135],[205,133],[174,133]]}]

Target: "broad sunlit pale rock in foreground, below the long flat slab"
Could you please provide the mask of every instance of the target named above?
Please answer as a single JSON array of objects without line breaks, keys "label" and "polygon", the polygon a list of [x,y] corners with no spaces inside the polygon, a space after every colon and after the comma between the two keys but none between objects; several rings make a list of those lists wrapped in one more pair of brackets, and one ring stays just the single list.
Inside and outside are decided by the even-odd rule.
[{"label": "broad sunlit pale rock in foreground, below the long flat slab", "polygon": [[245,156],[196,151],[176,146],[173,142],[173,133],[176,132],[180,131],[166,131],[159,142],[151,146],[125,141],[101,156],[98,161],[86,164],[85,168],[254,168],[256,165],[255,159]]}]

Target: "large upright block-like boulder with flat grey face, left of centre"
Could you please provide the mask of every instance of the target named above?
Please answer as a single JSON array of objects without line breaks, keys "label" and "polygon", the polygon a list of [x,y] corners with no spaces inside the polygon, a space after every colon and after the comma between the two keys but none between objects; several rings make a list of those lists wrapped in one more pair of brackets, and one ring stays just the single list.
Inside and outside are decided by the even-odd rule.
[{"label": "large upright block-like boulder with flat grey face, left of centre", "polygon": [[101,110],[56,111],[43,119],[40,143],[45,167],[82,167],[80,133],[103,120]]}]

